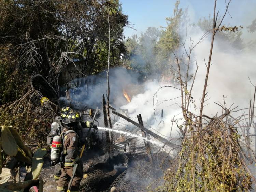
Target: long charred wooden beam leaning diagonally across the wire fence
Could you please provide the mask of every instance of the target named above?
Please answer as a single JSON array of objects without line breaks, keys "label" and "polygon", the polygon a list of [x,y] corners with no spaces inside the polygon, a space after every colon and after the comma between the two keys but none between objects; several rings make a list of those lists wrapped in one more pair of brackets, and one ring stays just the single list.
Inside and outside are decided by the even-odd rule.
[{"label": "long charred wooden beam leaning diagonally across the wire fence", "polygon": [[120,114],[120,113],[118,113],[118,112],[116,112],[116,111],[112,111],[112,113],[115,114],[115,115],[118,115],[119,117],[122,117],[122,118],[125,119],[126,121],[128,121],[128,122],[134,124],[134,125],[137,126],[138,128],[140,128],[140,129],[142,129],[143,131],[145,131],[147,134],[150,134],[152,137],[158,139],[159,141],[163,142],[164,144],[166,144],[166,145],[168,145],[168,146],[170,146],[170,147],[172,147],[172,148],[179,147],[179,146],[176,145],[175,143],[172,143],[172,142],[168,141],[167,139],[165,139],[165,138],[163,138],[163,137],[157,135],[156,133],[154,133],[154,132],[152,132],[152,131],[146,129],[144,126],[142,126],[142,125],[140,125],[139,123],[137,123],[137,122],[135,122],[135,121],[129,119],[128,117],[126,117],[126,116],[124,116],[124,115],[122,115],[122,114]]}]

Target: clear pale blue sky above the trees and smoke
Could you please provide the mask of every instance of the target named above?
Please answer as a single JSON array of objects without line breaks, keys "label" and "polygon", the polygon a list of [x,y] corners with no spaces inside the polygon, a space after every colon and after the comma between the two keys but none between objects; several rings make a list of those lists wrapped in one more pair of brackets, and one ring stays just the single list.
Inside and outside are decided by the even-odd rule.
[{"label": "clear pale blue sky above the trees and smoke", "polygon": [[[228,1],[228,0],[227,0]],[[166,26],[166,17],[173,14],[176,0],[120,0],[123,5],[123,13],[129,16],[129,21],[134,24],[136,30],[126,28],[124,35],[127,38],[133,34],[140,36],[148,27]],[[188,8],[188,15],[192,22],[197,22],[199,18],[208,17],[213,14],[214,0],[181,0],[180,7]],[[225,11],[225,0],[217,1],[217,10],[221,15]],[[252,39],[254,36],[247,33],[246,26],[256,18],[256,0],[232,0],[230,3],[229,15],[224,20],[225,24],[241,25],[243,38]]]}]

